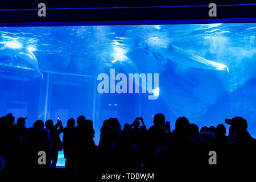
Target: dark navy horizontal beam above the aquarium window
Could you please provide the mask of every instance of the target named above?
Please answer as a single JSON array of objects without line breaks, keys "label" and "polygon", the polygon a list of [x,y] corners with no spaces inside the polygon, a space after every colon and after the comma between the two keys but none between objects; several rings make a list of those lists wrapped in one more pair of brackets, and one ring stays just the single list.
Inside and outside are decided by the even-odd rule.
[{"label": "dark navy horizontal beam above the aquarium window", "polygon": [[99,22],[98,24],[108,24],[102,22],[184,19],[209,19],[209,22],[214,22],[213,19],[256,18],[256,4],[217,6],[216,17],[209,17],[208,6],[47,9],[46,17],[39,17],[38,10],[0,10],[0,23]]}]

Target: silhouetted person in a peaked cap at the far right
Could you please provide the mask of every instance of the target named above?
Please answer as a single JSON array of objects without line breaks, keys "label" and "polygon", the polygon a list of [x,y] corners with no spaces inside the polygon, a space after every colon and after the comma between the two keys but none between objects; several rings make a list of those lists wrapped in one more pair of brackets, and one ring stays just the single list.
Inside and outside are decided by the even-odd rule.
[{"label": "silhouetted person in a peaked cap at the far right", "polygon": [[225,123],[232,126],[235,138],[226,148],[226,165],[230,169],[255,165],[256,140],[247,131],[247,121],[242,117],[234,117],[225,119]]}]

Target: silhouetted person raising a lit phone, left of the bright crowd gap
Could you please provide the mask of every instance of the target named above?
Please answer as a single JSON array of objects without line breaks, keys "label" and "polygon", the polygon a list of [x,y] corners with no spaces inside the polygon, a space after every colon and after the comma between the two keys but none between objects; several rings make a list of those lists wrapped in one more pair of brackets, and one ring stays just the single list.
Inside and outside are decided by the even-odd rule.
[{"label": "silhouetted person raising a lit phone, left of the bright crowd gap", "polygon": [[46,129],[50,131],[50,137],[52,140],[52,164],[51,168],[55,168],[58,160],[59,151],[62,150],[63,144],[60,140],[60,134],[63,133],[63,126],[61,121],[57,121],[56,125],[53,125],[51,119],[46,121]]}]

